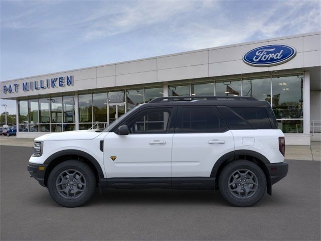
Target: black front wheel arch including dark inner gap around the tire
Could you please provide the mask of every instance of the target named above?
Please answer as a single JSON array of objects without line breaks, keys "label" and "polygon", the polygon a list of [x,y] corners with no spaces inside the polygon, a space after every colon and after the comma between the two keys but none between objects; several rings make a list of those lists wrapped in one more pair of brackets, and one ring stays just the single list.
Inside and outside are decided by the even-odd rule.
[{"label": "black front wheel arch including dark inner gap around the tire", "polygon": [[59,163],[62,163],[67,160],[76,159],[87,163],[94,171],[97,181],[104,178],[104,173],[99,165],[98,161],[91,156],[90,154],[80,151],[80,150],[63,150],[59,151],[46,159],[44,164],[47,164],[45,171],[45,186],[47,187],[47,181],[51,170],[57,166]]}]

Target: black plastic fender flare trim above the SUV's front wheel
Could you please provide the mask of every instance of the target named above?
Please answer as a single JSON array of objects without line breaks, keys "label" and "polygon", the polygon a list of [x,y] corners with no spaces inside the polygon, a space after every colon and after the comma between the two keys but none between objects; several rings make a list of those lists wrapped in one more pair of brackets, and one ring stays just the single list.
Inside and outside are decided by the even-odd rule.
[{"label": "black plastic fender flare trim above the SUV's front wheel", "polygon": [[81,157],[86,158],[96,168],[97,173],[98,173],[98,179],[104,178],[104,173],[103,173],[98,161],[90,154],[88,154],[84,151],[80,151],[80,150],[63,150],[63,151],[56,152],[56,153],[52,154],[50,157],[48,157],[46,159],[46,161],[44,162],[44,164],[50,164],[55,159],[62,157],[62,156],[68,156],[68,155],[76,155],[76,156],[81,156]]}]

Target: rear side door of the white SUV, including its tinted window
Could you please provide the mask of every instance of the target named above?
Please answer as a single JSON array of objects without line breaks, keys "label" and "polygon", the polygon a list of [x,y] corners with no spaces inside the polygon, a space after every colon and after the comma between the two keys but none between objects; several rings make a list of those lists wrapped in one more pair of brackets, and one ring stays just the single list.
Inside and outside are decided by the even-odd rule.
[{"label": "rear side door of the white SUV, including its tinted window", "polygon": [[210,177],[234,139],[215,106],[182,106],[173,138],[172,177]]}]

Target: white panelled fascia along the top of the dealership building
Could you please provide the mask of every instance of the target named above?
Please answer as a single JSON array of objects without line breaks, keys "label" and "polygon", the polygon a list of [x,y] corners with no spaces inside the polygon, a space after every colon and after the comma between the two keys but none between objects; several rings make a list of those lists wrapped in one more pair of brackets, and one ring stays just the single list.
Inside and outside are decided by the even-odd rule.
[{"label": "white panelled fascia along the top of the dealership building", "polygon": [[[0,98],[321,66],[320,38],[319,32],[301,34],[4,81],[0,83]],[[243,62],[242,57],[247,51],[276,43],[293,46],[296,56],[286,63],[270,67],[254,67]],[[73,86],[22,90],[22,83],[26,81],[70,75],[74,76]],[[3,93],[3,85],[9,84],[19,84],[18,92]]]}]

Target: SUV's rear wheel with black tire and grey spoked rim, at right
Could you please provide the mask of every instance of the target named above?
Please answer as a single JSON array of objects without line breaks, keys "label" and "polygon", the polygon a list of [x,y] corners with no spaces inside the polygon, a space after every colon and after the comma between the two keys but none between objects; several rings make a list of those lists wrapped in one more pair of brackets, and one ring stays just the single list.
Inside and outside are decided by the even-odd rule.
[{"label": "SUV's rear wheel with black tire and grey spoked rim, at right", "polygon": [[266,177],[253,162],[233,161],[220,173],[219,189],[224,199],[233,206],[252,206],[265,194]]}]

